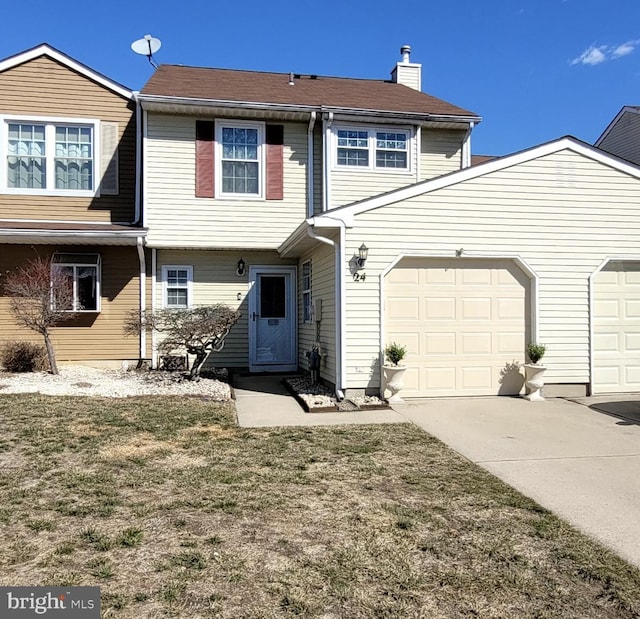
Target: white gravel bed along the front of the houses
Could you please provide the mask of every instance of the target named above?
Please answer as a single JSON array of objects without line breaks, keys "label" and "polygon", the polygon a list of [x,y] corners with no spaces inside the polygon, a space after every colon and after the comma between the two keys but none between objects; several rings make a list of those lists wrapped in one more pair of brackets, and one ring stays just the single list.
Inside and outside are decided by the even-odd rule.
[{"label": "white gravel bed along the front of the houses", "polygon": [[214,400],[231,399],[225,382],[201,378],[186,380],[181,372],[157,370],[105,370],[84,366],[60,366],[60,374],[0,371],[0,396],[5,393],[42,393],[44,395],[100,396],[126,398],[138,395],[194,395]]}]

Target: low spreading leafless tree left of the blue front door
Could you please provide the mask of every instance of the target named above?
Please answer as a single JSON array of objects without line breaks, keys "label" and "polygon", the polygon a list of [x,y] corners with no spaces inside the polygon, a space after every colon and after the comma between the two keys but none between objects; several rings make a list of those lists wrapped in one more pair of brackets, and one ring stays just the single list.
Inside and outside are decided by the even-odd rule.
[{"label": "low spreading leafless tree left of the blue front door", "polygon": [[191,309],[164,309],[155,312],[131,312],[125,323],[127,335],[155,330],[164,334],[158,346],[161,354],[184,350],[195,355],[189,378],[200,376],[202,366],[212,352],[222,350],[231,327],[238,322],[240,312],[217,303]]}]

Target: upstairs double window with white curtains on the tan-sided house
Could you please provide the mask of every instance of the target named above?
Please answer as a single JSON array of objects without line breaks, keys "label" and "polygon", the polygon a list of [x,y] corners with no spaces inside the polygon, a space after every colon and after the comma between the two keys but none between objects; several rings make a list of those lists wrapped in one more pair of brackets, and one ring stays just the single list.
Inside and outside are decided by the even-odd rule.
[{"label": "upstairs double window with white curtains on the tan-sided house", "polygon": [[95,193],[95,122],[5,118],[3,125],[7,191]]}]

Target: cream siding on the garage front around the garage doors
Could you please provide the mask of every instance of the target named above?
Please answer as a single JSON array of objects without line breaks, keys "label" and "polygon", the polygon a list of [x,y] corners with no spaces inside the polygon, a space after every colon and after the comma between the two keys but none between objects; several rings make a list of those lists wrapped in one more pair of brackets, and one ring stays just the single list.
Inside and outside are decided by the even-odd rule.
[{"label": "cream siding on the garage front around the garage doors", "polygon": [[460,260],[520,256],[538,274],[546,382],[587,383],[588,278],[610,255],[640,257],[639,204],[637,179],[564,150],[358,215],[347,257],[364,241],[369,259],[366,282],[347,277],[348,385],[379,356],[382,271],[403,253],[460,248]]}]

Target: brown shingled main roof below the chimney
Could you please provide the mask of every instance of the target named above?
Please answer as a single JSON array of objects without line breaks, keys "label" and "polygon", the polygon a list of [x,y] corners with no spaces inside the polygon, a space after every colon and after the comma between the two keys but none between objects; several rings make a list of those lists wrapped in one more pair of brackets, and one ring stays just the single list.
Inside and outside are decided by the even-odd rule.
[{"label": "brown shingled main roof below the chimney", "polygon": [[161,65],[141,91],[143,98],[175,97],[434,116],[479,117],[442,99],[386,80],[263,73]]}]

